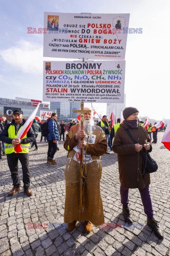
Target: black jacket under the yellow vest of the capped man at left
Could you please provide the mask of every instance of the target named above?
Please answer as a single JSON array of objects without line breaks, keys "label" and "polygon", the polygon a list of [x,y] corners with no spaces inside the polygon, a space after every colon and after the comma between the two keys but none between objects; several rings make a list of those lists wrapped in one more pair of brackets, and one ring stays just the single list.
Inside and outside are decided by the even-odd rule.
[{"label": "black jacket under the yellow vest of the capped man at left", "polygon": [[[20,124],[19,126],[19,129],[20,127],[25,123],[25,119],[22,119],[22,123]],[[5,142],[5,143],[8,143],[8,144],[12,144],[12,139],[11,138],[8,138],[8,128],[10,127],[10,125],[14,125],[15,126],[15,135],[16,135],[16,123],[15,123],[15,120],[13,119],[11,124],[7,124],[4,128],[4,130],[2,131],[2,133],[0,134],[0,140]],[[32,130],[32,127],[30,127],[30,129],[28,130],[27,132],[27,138],[25,139],[21,139],[21,143],[22,144],[26,144],[26,143],[29,143],[31,141],[34,141],[36,139],[36,135],[34,134],[33,130]]]}]

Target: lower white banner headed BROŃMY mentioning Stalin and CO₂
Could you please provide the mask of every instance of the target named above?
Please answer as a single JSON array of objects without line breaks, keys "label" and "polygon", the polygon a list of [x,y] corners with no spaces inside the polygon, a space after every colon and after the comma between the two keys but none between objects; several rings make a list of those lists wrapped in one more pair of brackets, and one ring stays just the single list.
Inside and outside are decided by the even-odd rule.
[{"label": "lower white banner headed BRO\u0143MY mentioning Stalin and CO\u2082", "polygon": [[44,61],[43,100],[123,103],[124,77],[124,60]]}]

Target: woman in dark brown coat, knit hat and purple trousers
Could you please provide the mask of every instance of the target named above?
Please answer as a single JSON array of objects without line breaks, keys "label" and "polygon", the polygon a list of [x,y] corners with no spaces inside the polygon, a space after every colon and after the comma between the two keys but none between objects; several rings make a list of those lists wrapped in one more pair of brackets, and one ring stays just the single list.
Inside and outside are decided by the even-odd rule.
[{"label": "woman in dark brown coat, knit hat and purple trousers", "polygon": [[[115,133],[112,147],[113,151],[117,153],[118,158],[123,215],[125,222],[132,223],[128,207],[128,192],[129,188],[138,188],[144,211],[147,215],[147,223],[155,235],[159,239],[163,239],[163,232],[159,229],[152,210],[149,192],[150,174],[145,171],[145,167],[142,167],[142,156],[139,153],[140,150],[151,152],[152,147],[145,128],[138,123],[138,114],[139,111],[137,108],[128,107],[123,110],[124,122]],[[137,143],[133,143],[126,130],[129,130]]]}]

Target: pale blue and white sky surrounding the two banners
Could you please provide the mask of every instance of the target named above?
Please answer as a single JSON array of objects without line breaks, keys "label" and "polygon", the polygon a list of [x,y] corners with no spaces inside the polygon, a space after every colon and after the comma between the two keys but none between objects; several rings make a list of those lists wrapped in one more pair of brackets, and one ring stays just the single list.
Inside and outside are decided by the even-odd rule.
[{"label": "pale blue and white sky surrounding the two banners", "polygon": [[[126,107],[138,108],[140,116],[170,118],[169,10],[168,0],[2,1],[0,97],[43,99],[43,34],[27,34],[27,27],[43,28],[45,11],[130,13],[129,28],[143,33],[128,34]],[[93,106],[106,114],[106,103]]]}]

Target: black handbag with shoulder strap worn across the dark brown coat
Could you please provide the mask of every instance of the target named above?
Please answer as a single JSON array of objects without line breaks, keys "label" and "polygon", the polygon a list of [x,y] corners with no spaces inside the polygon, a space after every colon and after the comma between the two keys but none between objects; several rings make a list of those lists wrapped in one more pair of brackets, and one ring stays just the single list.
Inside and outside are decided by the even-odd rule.
[{"label": "black handbag with shoulder strap worn across the dark brown coat", "polygon": [[[129,137],[131,138],[133,143],[137,144],[137,142],[133,138],[133,136],[130,133],[130,131],[128,129],[124,129],[124,130],[129,135]],[[156,172],[158,170],[158,165],[157,165],[156,161],[153,158],[151,158],[150,154],[147,152],[146,149],[145,149],[145,151],[140,150],[140,154],[142,156],[142,162],[143,162],[142,165],[145,166],[144,167],[144,172],[145,171],[148,172],[148,173]]]}]

